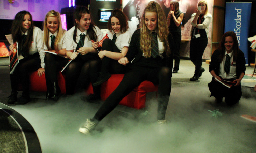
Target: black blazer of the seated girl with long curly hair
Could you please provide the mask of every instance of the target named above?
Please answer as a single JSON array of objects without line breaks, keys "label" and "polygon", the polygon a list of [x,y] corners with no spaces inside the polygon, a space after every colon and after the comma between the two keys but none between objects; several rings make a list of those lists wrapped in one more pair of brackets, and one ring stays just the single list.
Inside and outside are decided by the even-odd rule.
[{"label": "black blazer of the seated girl with long curly hair", "polygon": [[[173,38],[172,38],[172,35],[171,35],[170,32],[168,34],[168,40],[169,40],[169,46],[170,46],[170,49],[171,49],[171,52],[172,52],[172,50],[173,50]],[[131,37],[129,50],[128,50],[125,57],[127,57],[128,61],[132,61],[134,59],[132,61],[132,64],[139,61],[139,59],[142,57],[142,51],[140,50],[140,29],[137,29],[136,31],[134,31],[134,33]],[[163,57],[164,57],[163,65],[172,69],[173,54],[171,54],[171,55],[169,55],[169,57],[167,57],[166,53],[163,53]]]}]

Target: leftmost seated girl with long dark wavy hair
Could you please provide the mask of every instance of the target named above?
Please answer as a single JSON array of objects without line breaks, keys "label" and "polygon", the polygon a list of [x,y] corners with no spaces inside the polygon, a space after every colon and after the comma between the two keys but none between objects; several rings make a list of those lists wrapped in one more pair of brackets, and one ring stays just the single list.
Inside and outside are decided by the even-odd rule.
[{"label": "leftmost seated girl with long dark wavy hair", "polygon": [[[32,16],[28,11],[20,11],[15,15],[11,28],[13,42],[18,42],[20,55],[14,72],[10,74],[12,92],[8,104],[26,104],[31,101],[29,96],[29,72],[38,71],[38,76],[44,74],[43,33],[38,27],[33,26]],[[14,50],[14,45],[9,47]],[[22,85],[22,96],[17,98],[18,82]]]}]

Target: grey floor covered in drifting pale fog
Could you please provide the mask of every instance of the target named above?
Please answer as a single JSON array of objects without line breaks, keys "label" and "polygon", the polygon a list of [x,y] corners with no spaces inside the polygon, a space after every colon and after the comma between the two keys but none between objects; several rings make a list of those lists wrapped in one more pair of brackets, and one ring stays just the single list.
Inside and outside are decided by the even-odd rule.
[{"label": "grey floor covered in drifting pale fog", "polygon": [[[156,96],[147,94],[146,108],[134,110],[118,106],[91,135],[78,132],[101,104],[80,100],[79,96],[57,102],[33,99],[26,105],[9,105],[22,114],[37,132],[43,153],[253,153],[256,151],[256,123],[240,117],[256,116],[256,96],[243,87],[239,104],[232,107],[215,104],[209,97],[211,74],[208,64],[195,82],[194,66],[181,60],[179,73],[173,74],[172,91],[163,131],[156,126]],[[0,102],[10,94],[7,66],[0,66]],[[246,67],[251,74],[253,68]],[[246,96],[245,96],[246,95]],[[222,116],[213,116],[218,110]]]}]

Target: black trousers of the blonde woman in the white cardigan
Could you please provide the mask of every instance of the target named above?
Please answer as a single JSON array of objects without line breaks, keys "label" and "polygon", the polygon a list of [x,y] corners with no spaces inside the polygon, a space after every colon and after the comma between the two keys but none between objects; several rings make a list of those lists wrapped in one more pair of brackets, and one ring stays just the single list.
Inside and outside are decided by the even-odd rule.
[{"label": "black trousers of the blonde woman in the white cardigan", "polygon": [[201,70],[203,63],[202,56],[207,44],[207,37],[191,39],[189,56],[190,60],[195,65],[195,75],[199,75],[199,72]]}]

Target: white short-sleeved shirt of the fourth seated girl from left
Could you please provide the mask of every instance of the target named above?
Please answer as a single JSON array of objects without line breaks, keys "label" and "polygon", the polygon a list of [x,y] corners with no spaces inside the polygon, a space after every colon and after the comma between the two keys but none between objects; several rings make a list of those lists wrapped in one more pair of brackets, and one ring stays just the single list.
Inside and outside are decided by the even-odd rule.
[{"label": "white short-sleeved shirt of the fourth seated girl from left", "polygon": [[[115,34],[114,31],[112,33],[110,31],[107,32],[109,39],[113,39],[113,35]],[[124,47],[129,47],[131,42],[131,33],[129,31],[126,31],[125,33],[116,33],[116,47],[122,52],[121,50]]]}]

